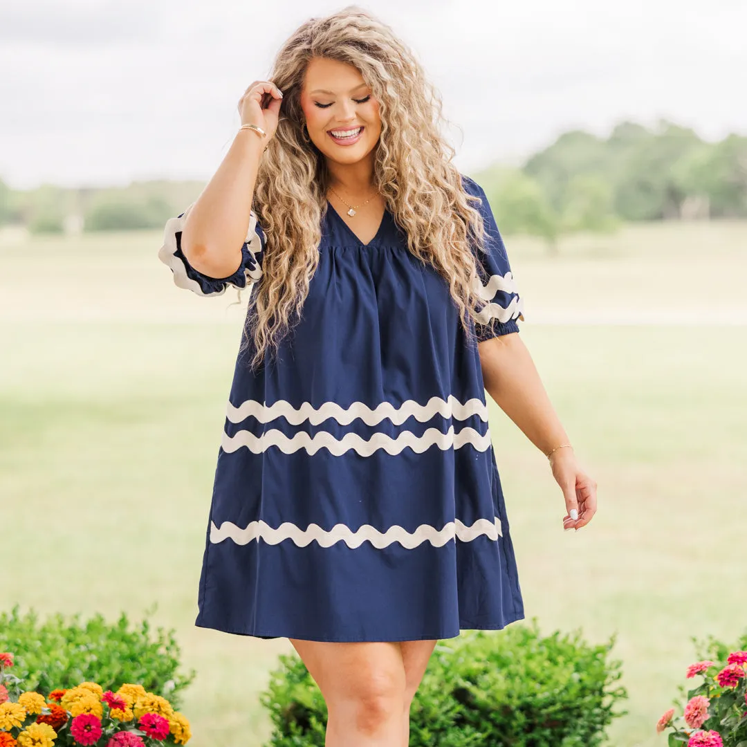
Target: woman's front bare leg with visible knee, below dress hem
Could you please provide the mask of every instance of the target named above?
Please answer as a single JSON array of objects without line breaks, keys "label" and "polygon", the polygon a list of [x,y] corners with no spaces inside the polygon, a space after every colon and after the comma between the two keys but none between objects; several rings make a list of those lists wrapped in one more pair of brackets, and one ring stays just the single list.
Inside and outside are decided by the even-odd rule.
[{"label": "woman's front bare leg with visible knee, below dress hem", "polygon": [[398,642],[291,643],[326,702],[325,747],[402,744],[406,676]]}]

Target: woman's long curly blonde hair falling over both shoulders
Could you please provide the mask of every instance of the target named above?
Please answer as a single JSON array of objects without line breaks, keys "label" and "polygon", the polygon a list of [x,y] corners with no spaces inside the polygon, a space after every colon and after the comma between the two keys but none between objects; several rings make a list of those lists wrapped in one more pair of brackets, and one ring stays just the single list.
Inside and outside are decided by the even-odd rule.
[{"label": "woman's long curly blonde hair falling over both shoulders", "polygon": [[356,67],[379,102],[382,129],[375,151],[374,187],[408,249],[448,282],[462,325],[476,320],[476,255],[483,245],[483,218],[468,200],[454,149],[441,137],[441,97],[427,81],[412,51],[388,25],[356,5],[324,18],[311,18],[283,44],[268,80],[283,92],[275,137],[264,151],[252,209],[266,237],[262,277],[249,300],[245,341],[252,329],[255,354],[264,360],[300,318],[309,282],[319,261],[321,220],[326,213],[329,172],[323,154],[302,133],[300,94],[313,58]]}]

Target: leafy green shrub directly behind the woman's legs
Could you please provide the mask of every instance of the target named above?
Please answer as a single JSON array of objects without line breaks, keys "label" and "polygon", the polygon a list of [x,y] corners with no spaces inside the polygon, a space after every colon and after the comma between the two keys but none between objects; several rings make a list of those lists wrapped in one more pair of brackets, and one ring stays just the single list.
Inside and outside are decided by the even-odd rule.
[{"label": "leafy green shrub directly behind the woman's legs", "polygon": [[[536,619],[496,632],[465,631],[433,652],[412,704],[411,747],[595,747],[627,698],[616,636],[589,645],[541,636]],[[267,747],[323,747],[326,706],[296,654],[282,654],[261,702],[274,730]]]}]

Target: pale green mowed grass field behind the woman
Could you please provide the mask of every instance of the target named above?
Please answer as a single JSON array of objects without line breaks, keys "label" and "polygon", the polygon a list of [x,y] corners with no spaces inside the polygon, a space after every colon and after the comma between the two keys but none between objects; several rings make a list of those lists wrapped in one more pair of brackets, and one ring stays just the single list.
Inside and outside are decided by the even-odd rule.
[{"label": "pale green mowed grass field behind the woman", "polygon": [[[161,240],[0,240],[0,604],[137,620],[157,602],[198,672],[190,744],[258,747],[291,645],[193,625],[242,306],[173,286]],[[630,226],[557,258],[507,244],[521,335],[599,484],[564,533],[547,460],[490,403],[527,617],[617,634],[611,744],[654,747],[690,637],[747,630],[747,224]]]}]

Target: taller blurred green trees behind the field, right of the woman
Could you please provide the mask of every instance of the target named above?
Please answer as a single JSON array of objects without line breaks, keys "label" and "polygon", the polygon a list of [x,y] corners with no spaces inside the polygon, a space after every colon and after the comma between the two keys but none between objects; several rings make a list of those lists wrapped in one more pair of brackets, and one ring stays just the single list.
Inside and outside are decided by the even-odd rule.
[{"label": "taller blurred green trees behind the field, right of the woman", "polygon": [[606,232],[622,221],[747,217],[747,137],[712,143],[666,120],[568,131],[518,168],[480,173],[503,233]]}]

